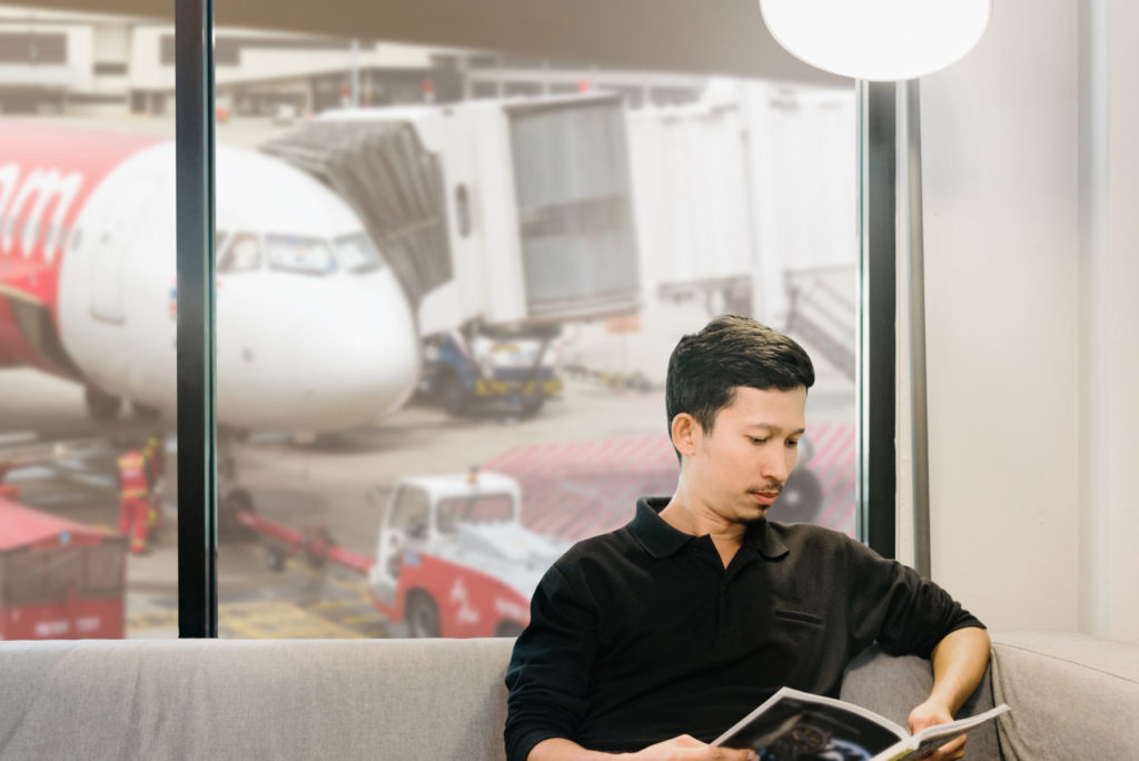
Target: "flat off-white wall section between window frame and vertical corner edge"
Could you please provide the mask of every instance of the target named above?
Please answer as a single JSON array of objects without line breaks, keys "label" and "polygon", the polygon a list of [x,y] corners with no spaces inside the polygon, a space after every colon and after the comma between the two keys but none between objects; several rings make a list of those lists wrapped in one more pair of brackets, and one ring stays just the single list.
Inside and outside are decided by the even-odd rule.
[{"label": "flat off-white wall section between window frame and vertical corner edge", "polygon": [[921,82],[933,576],[994,629],[1077,624],[1076,60],[1002,0]]}]

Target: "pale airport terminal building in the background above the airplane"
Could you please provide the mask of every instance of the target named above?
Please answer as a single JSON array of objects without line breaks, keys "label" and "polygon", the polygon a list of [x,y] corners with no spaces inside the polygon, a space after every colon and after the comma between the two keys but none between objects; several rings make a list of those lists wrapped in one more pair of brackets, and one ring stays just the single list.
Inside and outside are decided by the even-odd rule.
[{"label": "pale airport terminal building in the background above the airplane", "polygon": [[[222,116],[287,116],[343,105],[622,92],[629,105],[691,103],[706,77],[601,71],[542,58],[220,28]],[[169,19],[0,6],[0,113],[150,114],[174,108]]]}]

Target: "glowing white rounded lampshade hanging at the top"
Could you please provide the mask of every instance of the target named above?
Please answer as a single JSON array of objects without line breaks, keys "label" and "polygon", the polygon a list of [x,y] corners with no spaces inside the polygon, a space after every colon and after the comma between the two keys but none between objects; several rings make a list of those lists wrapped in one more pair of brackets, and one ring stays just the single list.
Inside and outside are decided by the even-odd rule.
[{"label": "glowing white rounded lampshade hanging at the top", "polygon": [[911,80],[977,43],[990,0],[760,0],[763,23],[793,56],[859,80]]}]

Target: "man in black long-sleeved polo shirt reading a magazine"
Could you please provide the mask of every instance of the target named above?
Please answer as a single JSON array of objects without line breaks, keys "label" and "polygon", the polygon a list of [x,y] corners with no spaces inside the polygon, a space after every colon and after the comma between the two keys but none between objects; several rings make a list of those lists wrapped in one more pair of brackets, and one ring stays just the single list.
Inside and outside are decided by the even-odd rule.
[{"label": "man in black long-sleeved polo shirt reading a magazine", "polygon": [[813,383],[802,347],[753,320],[680,341],[665,398],[677,491],[640,499],[542,579],[507,671],[510,761],[754,758],[706,743],[781,686],[837,695],[875,640],[933,660],[911,729],[952,719],[988,663],[981,622],[844,534],[765,519]]}]

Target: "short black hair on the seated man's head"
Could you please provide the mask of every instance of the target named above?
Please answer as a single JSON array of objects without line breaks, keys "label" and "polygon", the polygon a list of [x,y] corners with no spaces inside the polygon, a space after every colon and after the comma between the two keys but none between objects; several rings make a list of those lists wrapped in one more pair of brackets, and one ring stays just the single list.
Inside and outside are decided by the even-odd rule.
[{"label": "short black hair on the seated man's head", "polygon": [[718,317],[681,338],[669,358],[669,432],[673,418],[688,412],[711,433],[716,414],[731,404],[739,386],[792,391],[812,385],[814,366],[795,341],[747,317]]}]

